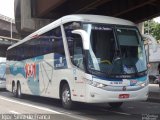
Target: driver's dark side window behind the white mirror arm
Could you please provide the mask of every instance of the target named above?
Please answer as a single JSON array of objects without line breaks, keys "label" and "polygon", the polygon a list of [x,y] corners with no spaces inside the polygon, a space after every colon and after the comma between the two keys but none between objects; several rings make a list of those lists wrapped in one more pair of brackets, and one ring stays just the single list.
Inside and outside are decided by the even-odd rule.
[{"label": "driver's dark side window behind the white mirror arm", "polygon": [[84,69],[82,38],[80,35],[72,33],[72,30],[81,29],[81,25],[78,22],[71,22],[65,24],[64,28],[72,63],[75,66]]}]

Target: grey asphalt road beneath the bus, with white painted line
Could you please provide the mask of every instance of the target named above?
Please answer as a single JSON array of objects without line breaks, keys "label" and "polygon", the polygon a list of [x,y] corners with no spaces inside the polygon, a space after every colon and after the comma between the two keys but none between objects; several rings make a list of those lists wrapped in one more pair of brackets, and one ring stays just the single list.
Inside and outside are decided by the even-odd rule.
[{"label": "grey asphalt road beneath the bus, with white painted line", "polygon": [[[5,116],[7,114],[9,116]],[[36,116],[37,119],[41,117],[48,120],[160,120],[160,103],[126,102],[119,109],[110,108],[107,104],[77,103],[74,110],[65,110],[59,100],[33,96],[18,99],[7,91],[0,91],[0,119],[13,120],[10,114],[14,119],[23,118],[20,115],[43,114]]]}]

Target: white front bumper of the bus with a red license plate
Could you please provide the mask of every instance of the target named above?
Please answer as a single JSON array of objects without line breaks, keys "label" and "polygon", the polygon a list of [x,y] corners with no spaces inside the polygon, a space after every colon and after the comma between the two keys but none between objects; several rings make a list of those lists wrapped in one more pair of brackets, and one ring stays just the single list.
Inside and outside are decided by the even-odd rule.
[{"label": "white front bumper of the bus with a red license plate", "polygon": [[107,91],[90,85],[87,88],[87,103],[144,101],[148,98],[148,86],[137,91]]}]

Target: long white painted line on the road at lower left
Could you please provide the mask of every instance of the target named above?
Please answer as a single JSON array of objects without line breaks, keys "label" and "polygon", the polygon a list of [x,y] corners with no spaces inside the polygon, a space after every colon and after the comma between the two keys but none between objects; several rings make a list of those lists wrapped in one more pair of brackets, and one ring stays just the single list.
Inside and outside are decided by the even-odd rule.
[{"label": "long white painted line on the road at lower left", "polygon": [[2,97],[2,96],[0,96],[0,99],[6,100],[6,101],[8,101],[8,102],[12,102],[12,103],[24,105],[24,106],[36,108],[36,109],[39,109],[39,110],[48,111],[48,112],[51,112],[51,113],[54,113],[54,114],[63,114],[63,113],[61,113],[61,112],[54,111],[54,110],[51,110],[51,109],[49,109],[49,108],[39,107],[39,106],[31,105],[31,104],[28,104],[28,103],[19,102],[19,101],[16,101],[16,100],[11,100],[11,99],[8,99],[8,98]]}]

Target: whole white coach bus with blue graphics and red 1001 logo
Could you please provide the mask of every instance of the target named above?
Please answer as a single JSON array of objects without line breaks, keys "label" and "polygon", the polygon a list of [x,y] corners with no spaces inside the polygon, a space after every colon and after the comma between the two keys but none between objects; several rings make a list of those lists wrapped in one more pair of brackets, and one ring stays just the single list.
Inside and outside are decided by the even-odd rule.
[{"label": "whole white coach bus with blue graphics and red 1001 logo", "polygon": [[7,50],[7,90],[74,101],[109,103],[148,97],[142,37],[130,21],[98,15],[68,15]]}]

